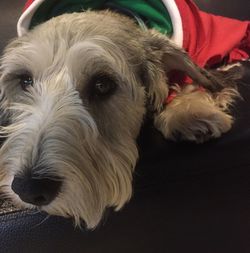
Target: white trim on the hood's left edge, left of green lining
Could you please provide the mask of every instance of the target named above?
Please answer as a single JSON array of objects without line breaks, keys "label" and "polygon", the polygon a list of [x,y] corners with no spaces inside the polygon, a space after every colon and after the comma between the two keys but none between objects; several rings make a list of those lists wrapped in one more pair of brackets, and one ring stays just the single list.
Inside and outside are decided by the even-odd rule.
[{"label": "white trim on the hood's left edge, left of green lining", "polygon": [[28,32],[30,21],[38,9],[38,7],[44,2],[45,0],[35,0],[21,15],[17,22],[17,35],[23,36],[25,33]]}]

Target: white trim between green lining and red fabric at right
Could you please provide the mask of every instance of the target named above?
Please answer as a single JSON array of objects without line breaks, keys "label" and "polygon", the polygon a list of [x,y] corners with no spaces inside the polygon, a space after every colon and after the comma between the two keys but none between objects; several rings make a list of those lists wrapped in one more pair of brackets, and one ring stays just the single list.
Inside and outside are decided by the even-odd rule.
[{"label": "white trim between green lining and red fabric at right", "polygon": [[179,47],[183,46],[183,27],[179,9],[174,0],[162,0],[166,6],[173,24],[173,35],[171,40]]}]

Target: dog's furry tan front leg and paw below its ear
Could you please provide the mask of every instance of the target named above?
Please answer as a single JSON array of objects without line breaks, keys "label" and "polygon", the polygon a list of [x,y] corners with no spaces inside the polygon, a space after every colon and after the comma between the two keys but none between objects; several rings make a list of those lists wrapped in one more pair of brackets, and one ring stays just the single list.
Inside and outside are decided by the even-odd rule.
[{"label": "dog's furry tan front leg and paw below its ear", "polygon": [[195,89],[187,85],[156,115],[155,126],[165,138],[201,143],[230,130],[233,119],[227,112],[228,105],[237,92],[224,89],[212,95]]}]

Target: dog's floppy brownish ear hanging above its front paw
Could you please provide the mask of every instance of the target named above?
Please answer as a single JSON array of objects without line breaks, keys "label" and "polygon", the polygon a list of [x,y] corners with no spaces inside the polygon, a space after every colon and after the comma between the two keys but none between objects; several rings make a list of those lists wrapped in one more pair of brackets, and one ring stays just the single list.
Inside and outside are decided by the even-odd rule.
[{"label": "dog's floppy brownish ear hanging above its front paw", "polygon": [[177,47],[165,35],[149,30],[144,46],[147,55],[146,88],[153,110],[159,111],[164,104],[168,95],[168,73],[173,70],[185,73],[194,82],[210,90],[222,88],[213,74],[198,67],[183,49]]}]

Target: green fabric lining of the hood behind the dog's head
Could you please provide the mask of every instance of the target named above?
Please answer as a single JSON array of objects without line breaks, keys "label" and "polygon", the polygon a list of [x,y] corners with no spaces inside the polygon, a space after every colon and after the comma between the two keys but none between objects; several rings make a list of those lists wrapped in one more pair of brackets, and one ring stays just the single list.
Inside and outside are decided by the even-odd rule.
[{"label": "green fabric lining of the hood behind the dog's head", "polygon": [[63,13],[87,9],[102,10],[109,4],[130,10],[139,16],[148,28],[154,28],[168,36],[173,34],[169,13],[161,0],[46,0],[31,20],[31,27]]}]

